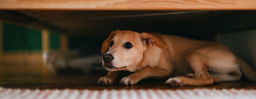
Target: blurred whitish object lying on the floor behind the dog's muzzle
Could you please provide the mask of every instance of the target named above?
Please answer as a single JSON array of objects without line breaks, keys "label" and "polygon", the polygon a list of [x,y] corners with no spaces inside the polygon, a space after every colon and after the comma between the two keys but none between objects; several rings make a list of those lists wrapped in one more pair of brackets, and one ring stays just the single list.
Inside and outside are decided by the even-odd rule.
[{"label": "blurred whitish object lying on the floor behind the dog's muzzle", "polygon": [[106,70],[102,66],[102,56],[103,54],[79,57],[78,51],[48,50],[43,52],[46,68],[55,73],[68,66],[73,69],[81,69],[85,74],[90,73],[91,70]]}]

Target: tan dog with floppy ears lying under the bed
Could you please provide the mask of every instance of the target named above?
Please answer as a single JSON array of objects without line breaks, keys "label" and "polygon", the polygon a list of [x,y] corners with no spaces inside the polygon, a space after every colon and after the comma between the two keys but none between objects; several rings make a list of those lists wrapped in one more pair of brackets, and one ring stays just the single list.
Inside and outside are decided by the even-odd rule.
[{"label": "tan dog with floppy ears lying under the bed", "polygon": [[165,83],[171,87],[203,86],[240,80],[242,73],[256,81],[256,72],[247,63],[215,42],[117,30],[103,42],[101,51],[106,53],[103,66],[109,70],[98,80],[102,86],[113,83],[117,70],[135,72],[122,78],[121,85],[134,85],[148,77],[174,77]]}]

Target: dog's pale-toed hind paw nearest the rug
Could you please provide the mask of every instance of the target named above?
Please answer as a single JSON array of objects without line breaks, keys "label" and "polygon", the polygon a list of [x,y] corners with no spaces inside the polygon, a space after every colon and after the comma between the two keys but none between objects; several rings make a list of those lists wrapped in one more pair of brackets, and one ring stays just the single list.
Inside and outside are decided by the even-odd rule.
[{"label": "dog's pale-toed hind paw nearest the rug", "polygon": [[175,77],[175,78],[170,78],[168,79],[165,84],[167,84],[169,87],[178,87],[178,86],[182,86],[182,83],[180,81],[180,78],[182,77]]}]

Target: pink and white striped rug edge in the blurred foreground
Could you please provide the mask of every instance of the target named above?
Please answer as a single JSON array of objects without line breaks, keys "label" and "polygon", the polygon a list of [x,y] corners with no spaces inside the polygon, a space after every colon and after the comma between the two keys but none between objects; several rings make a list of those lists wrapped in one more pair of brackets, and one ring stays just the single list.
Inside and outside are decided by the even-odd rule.
[{"label": "pink and white striped rug edge in the blurred foreground", "polygon": [[256,90],[29,90],[0,87],[0,99],[256,99]]}]

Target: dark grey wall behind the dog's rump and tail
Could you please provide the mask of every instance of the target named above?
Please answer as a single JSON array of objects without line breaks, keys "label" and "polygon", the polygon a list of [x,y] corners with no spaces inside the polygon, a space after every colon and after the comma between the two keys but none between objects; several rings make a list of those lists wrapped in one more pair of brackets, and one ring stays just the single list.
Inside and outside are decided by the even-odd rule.
[{"label": "dark grey wall behind the dog's rump and tail", "polygon": [[223,33],[219,41],[256,70],[256,29]]}]

